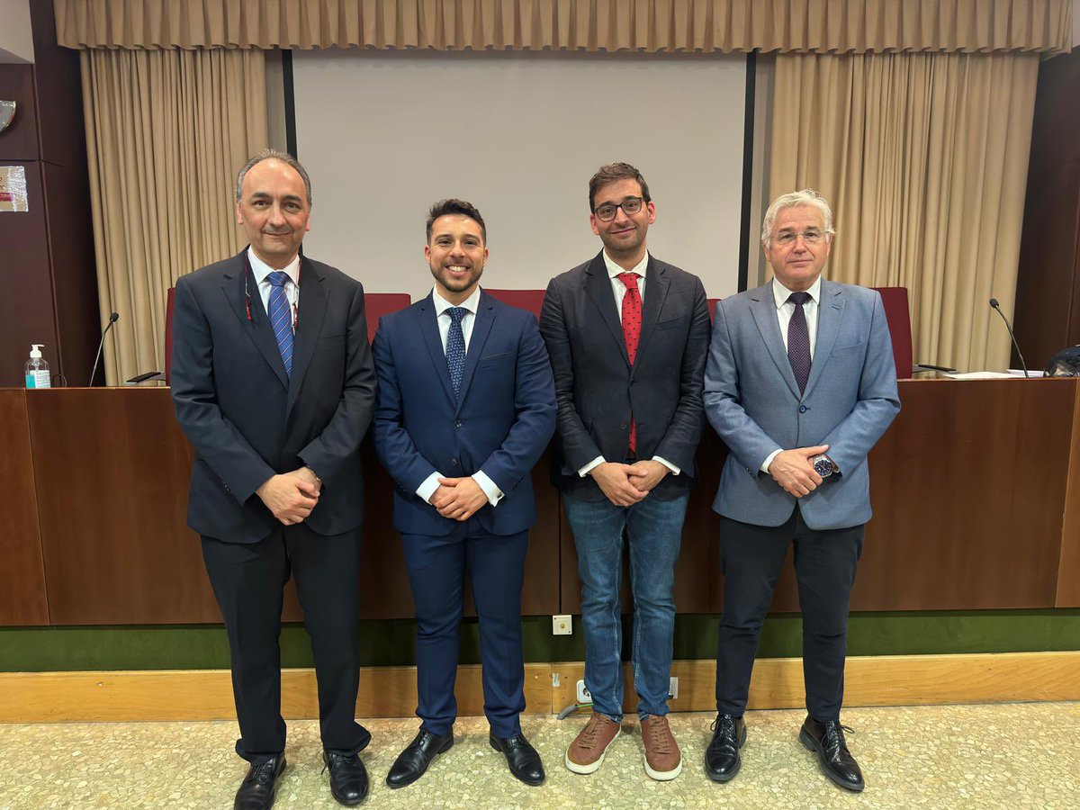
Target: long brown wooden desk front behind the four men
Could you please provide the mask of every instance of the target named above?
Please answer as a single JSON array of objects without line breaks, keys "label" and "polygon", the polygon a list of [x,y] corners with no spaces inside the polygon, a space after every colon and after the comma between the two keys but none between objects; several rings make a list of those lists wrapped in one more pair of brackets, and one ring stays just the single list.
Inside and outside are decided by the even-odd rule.
[{"label": "long brown wooden desk front behind the four men", "polygon": [[[856,610],[1080,606],[1080,384],[904,380],[870,455],[874,519]],[[0,390],[0,624],[218,622],[199,538],[185,525],[191,449],[164,389]],[[361,611],[409,618],[391,484],[365,443]],[[723,604],[711,505],[726,449],[706,430],[676,572],[680,612]],[[572,535],[534,471],[527,615],[578,612]],[[629,602],[625,603],[629,606]],[[797,610],[785,571],[773,604]],[[286,620],[300,618],[295,595]]]}]

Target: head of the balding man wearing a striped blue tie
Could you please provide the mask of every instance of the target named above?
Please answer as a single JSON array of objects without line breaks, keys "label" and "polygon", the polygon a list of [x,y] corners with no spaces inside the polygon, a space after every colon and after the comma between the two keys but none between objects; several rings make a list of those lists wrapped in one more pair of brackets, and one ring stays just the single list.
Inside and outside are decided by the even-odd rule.
[{"label": "head of the balding man wearing a striped blue tie", "polygon": [[274,158],[259,161],[244,175],[237,224],[244,226],[255,255],[281,270],[311,230],[308,192],[299,173]]}]

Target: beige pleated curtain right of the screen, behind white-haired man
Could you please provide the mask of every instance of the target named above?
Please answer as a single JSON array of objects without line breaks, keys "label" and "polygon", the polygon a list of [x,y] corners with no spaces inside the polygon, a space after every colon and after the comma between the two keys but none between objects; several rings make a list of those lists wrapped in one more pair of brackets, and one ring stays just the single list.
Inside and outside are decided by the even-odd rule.
[{"label": "beige pleated curtain right of the screen, behind white-haired man", "polygon": [[915,361],[1001,370],[1039,60],[1025,54],[777,57],[769,199],[807,186],[837,230],[826,274],[905,286]]}]

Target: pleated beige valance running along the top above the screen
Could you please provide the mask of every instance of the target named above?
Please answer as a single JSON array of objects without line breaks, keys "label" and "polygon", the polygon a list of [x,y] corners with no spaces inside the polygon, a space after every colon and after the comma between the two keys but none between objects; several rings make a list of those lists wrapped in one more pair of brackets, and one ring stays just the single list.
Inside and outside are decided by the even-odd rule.
[{"label": "pleated beige valance running along the top above the screen", "polygon": [[1071,0],[54,0],[68,48],[1058,51]]}]

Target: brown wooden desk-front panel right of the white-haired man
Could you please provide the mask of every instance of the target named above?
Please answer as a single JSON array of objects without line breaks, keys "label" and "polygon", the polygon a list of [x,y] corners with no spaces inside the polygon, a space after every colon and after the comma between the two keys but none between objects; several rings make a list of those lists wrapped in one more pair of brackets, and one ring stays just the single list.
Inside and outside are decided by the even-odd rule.
[{"label": "brown wooden desk-front panel right of the white-haired man", "polygon": [[1053,607],[1076,387],[901,381],[852,609]]}]

